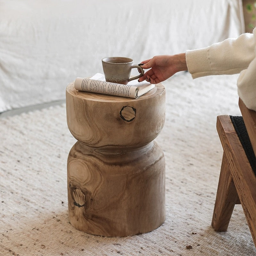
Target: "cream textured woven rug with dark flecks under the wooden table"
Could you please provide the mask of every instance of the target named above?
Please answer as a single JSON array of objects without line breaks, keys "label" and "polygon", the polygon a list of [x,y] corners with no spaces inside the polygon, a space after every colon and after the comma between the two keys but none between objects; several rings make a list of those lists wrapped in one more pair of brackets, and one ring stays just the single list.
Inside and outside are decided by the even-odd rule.
[{"label": "cream textured woven rug with dark flecks under the wooden table", "polygon": [[216,116],[240,115],[236,79],[180,73],[164,82],[166,121],[156,141],[166,161],[166,220],[132,237],[69,224],[66,164],[76,140],[65,105],[0,117],[0,255],[256,255],[241,205],[227,232],[211,227],[222,158]]}]

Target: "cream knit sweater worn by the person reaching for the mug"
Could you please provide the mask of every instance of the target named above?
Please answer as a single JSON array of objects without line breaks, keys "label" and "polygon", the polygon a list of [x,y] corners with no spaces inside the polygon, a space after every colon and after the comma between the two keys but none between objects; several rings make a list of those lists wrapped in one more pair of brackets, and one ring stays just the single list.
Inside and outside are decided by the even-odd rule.
[{"label": "cream knit sweater worn by the person reaching for the mug", "polygon": [[240,73],[238,95],[247,108],[256,111],[256,28],[252,34],[245,33],[203,49],[187,51],[186,61],[193,78]]}]

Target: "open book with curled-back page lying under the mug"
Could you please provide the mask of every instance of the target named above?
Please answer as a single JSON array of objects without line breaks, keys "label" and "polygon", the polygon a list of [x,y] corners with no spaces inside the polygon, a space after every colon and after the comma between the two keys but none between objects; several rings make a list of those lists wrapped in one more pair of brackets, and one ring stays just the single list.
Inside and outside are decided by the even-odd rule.
[{"label": "open book with curled-back page lying under the mug", "polygon": [[91,78],[77,77],[75,80],[75,89],[84,92],[95,92],[114,96],[138,98],[155,87],[146,81],[138,82],[132,80],[128,84],[115,84],[106,82],[105,76],[97,73]]}]

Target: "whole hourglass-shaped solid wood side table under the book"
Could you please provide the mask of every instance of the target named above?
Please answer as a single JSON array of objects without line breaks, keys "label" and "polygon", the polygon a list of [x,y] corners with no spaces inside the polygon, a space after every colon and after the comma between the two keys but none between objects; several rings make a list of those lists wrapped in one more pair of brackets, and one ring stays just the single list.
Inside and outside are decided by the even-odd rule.
[{"label": "whole hourglass-shaped solid wood side table under the book", "polygon": [[86,233],[132,236],[165,220],[165,161],[154,139],[165,120],[165,89],[138,99],[66,89],[68,216]]}]

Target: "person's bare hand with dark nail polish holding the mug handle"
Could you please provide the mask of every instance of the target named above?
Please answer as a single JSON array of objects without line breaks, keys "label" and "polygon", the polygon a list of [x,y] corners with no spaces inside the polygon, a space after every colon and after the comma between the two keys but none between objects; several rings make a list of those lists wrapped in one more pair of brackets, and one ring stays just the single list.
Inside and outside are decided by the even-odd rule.
[{"label": "person's bare hand with dark nail polish holding the mug handle", "polygon": [[142,61],[139,65],[141,68],[151,69],[145,72],[138,81],[146,80],[151,84],[161,83],[179,71],[188,70],[185,53],[158,55],[152,59]]}]

